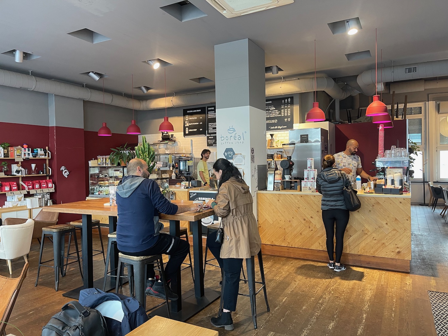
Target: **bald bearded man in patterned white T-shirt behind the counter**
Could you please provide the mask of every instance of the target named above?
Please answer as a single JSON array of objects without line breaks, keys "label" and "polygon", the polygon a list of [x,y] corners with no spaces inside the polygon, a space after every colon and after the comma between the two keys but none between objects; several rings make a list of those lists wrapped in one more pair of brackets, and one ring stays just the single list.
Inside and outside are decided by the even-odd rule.
[{"label": "bald bearded man in patterned white T-shirt behind the counter", "polygon": [[343,172],[349,175],[350,181],[355,182],[356,176],[359,175],[366,178],[368,181],[376,181],[377,177],[372,177],[362,169],[361,158],[356,155],[358,151],[358,141],[350,139],[347,141],[345,151],[336,153],[334,155],[336,159],[336,168],[339,168]]}]

